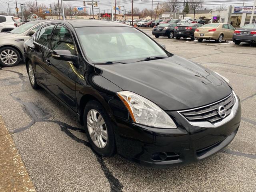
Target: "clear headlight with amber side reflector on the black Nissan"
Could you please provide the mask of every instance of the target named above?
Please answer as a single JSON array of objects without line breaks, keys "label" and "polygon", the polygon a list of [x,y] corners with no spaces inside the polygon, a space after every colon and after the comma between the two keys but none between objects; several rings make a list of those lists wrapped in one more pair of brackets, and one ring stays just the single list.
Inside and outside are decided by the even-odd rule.
[{"label": "clear headlight with amber side reflector on the black Nissan", "polygon": [[158,128],[177,128],[172,118],[150,100],[130,91],[120,91],[117,95],[134,122]]}]

